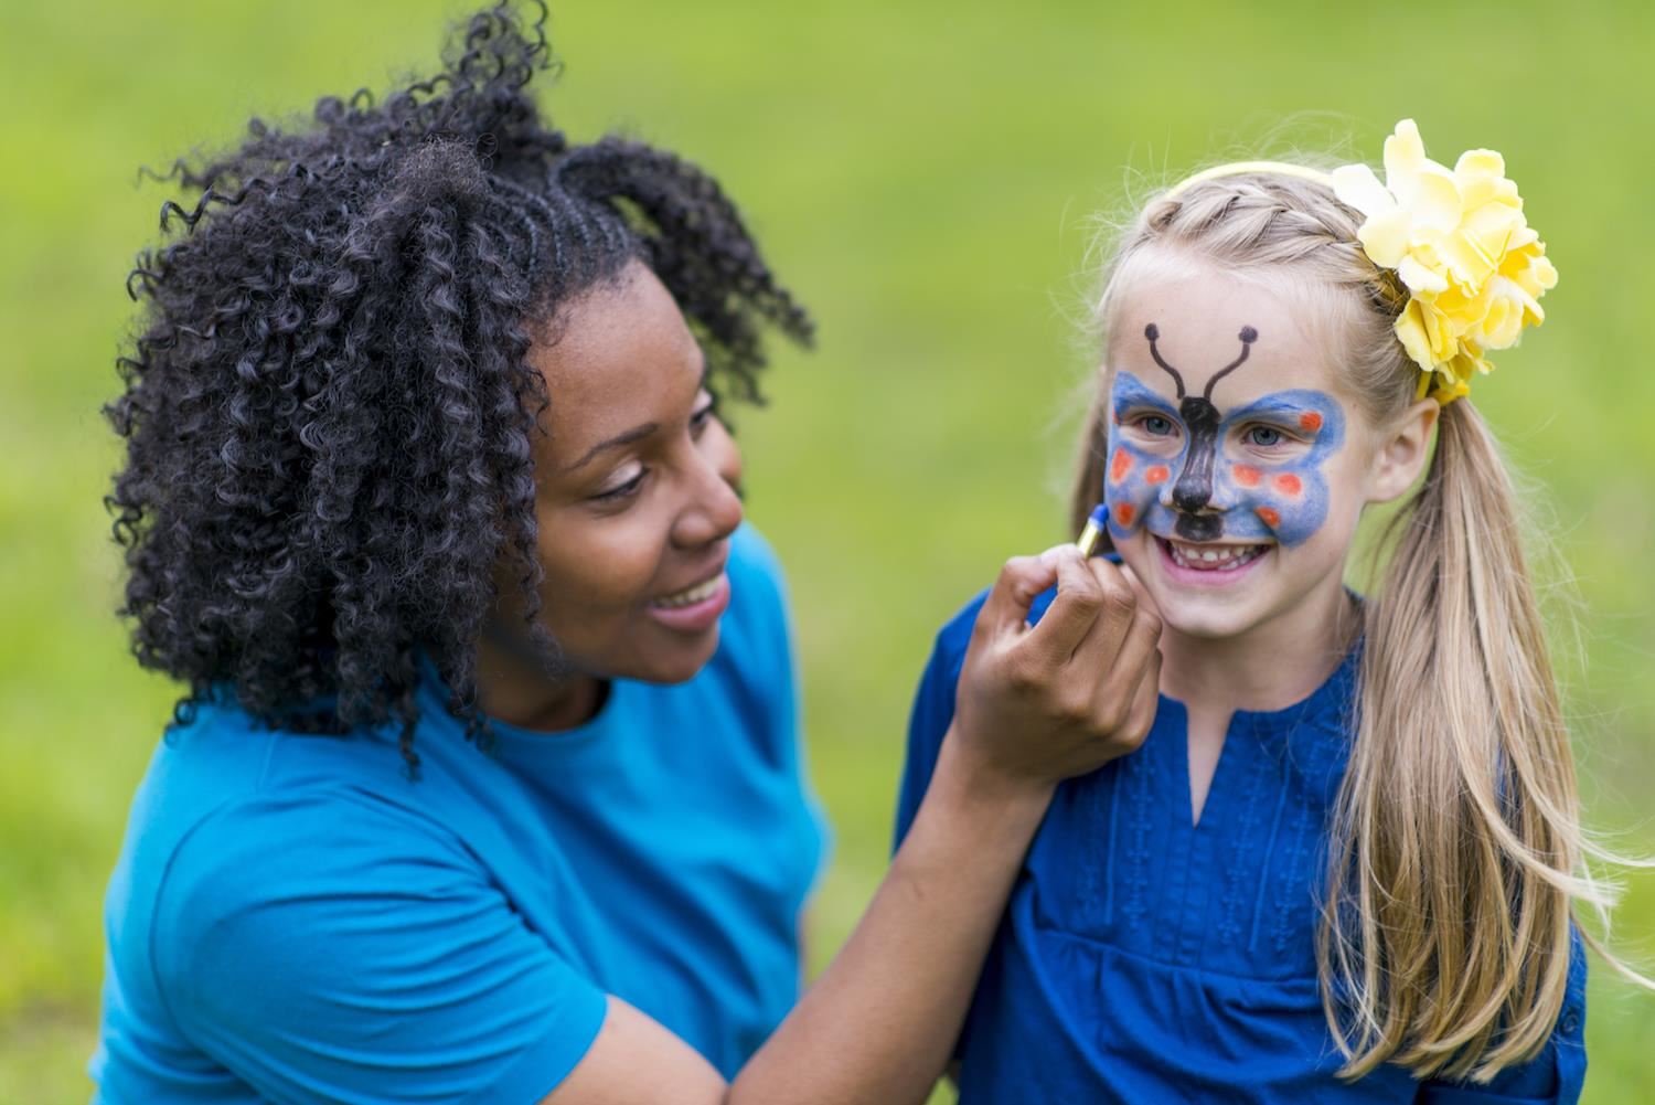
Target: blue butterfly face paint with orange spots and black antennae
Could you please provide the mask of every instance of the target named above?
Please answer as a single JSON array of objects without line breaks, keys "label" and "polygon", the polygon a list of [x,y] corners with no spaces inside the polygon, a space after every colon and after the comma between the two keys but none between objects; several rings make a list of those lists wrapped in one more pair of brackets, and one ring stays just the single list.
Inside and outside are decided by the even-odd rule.
[{"label": "blue butterfly face paint with orange spots and black antennae", "polygon": [[1241,355],[1200,396],[1187,394],[1182,373],[1162,358],[1154,323],[1144,336],[1178,404],[1132,373],[1115,373],[1104,472],[1111,535],[1145,527],[1185,542],[1288,547],[1312,537],[1327,519],[1322,466],[1344,444],[1339,403],[1324,391],[1274,391],[1220,414],[1213,386],[1246,363],[1258,331],[1241,328]]}]

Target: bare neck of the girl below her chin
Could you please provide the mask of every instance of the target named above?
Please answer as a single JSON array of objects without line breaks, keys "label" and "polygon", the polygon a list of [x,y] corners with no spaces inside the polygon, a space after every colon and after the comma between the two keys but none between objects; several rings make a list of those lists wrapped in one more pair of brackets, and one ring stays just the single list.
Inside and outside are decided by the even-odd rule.
[{"label": "bare neck of the girl below her chin", "polygon": [[1322,686],[1350,651],[1362,613],[1344,583],[1307,595],[1293,610],[1230,638],[1198,638],[1167,626],[1160,689],[1192,714],[1276,711]]}]

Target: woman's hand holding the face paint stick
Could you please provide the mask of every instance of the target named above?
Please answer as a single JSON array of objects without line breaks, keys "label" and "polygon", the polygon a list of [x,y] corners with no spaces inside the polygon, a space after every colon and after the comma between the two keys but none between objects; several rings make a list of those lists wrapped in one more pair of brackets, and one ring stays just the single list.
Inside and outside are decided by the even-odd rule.
[{"label": "woman's hand holding the face paint stick", "polygon": [[[1029,606],[1058,583],[1039,625]],[[1155,719],[1160,618],[1120,568],[1072,545],[1006,562],[957,691],[957,767],[976,785],[1049,794],[1137,749]]]}]

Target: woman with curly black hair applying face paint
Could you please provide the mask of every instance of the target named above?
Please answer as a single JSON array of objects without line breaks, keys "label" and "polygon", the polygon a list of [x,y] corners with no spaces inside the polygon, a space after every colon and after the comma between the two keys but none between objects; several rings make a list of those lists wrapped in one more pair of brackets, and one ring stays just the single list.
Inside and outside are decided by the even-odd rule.
[{"label": "woman with curly black hair applying face paint", "polygon": [[1158,625],[1072,550],[1006,565],[788,1012],[818,843],[713,389],[808,318],[712,179],[541,123],[538,27],[452,58],[180,166],[134,272],[126,613],[190,691],[111,881],[99,1100],[922,1100],[1056,782],[1147,731]]}]

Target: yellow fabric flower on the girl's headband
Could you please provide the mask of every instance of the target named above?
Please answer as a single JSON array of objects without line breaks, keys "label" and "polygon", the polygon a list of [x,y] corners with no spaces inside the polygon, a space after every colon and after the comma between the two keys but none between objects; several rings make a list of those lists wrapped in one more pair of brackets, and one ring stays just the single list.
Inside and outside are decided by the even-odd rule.
[{"label": "yellow fabric flower on the girl's headband", "polygon": [[1397,338],[1422,369],[1420,396],[1453,403],[1493,369],[1486,350],[1509,348],[1544,321],[1539,300],[1557,270],[1494,151],[1470,149],[1448,169],[1403,119],[1385,139],[1384,184],[1357,164],[1334,169],[1332,186],[1365,215],[1362,250],[1408,288]]}]

